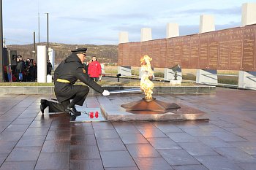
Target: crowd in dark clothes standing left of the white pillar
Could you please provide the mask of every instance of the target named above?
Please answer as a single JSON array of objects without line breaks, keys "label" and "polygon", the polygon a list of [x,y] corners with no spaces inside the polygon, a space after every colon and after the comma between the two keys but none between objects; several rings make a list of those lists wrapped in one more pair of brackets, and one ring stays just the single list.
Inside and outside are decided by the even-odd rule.
[{"label": "crowd in dark clothes standing left of the white pillar", "polygon": [[23,60],[17,56],[17,64],[4,66],[4,79],[6,82],[35,82],[37,80],[37,63],[34,59]]}]

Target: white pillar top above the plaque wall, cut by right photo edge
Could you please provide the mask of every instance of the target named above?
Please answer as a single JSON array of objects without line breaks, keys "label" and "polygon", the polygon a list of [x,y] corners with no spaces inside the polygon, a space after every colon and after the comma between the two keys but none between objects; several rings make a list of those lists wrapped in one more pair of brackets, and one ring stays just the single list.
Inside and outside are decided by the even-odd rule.
[{"label": "white pillar top above the plaque wall, cut by right photo edge", "polygon": [[242,26],[256,23],[256,3],[245,3],[242,5]]}]

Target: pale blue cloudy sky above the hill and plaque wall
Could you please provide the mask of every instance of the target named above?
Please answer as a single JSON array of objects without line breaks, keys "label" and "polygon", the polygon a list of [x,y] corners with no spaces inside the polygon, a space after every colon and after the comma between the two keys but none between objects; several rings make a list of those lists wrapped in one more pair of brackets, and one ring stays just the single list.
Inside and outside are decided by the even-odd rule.
[{"label": "pale blue cloudy sky above the hill and plaque wall", "polygon": [[49,42],[117,45],[120,31],[129,42],[140,41],[141,28],[165,38],[167,23],[178,23],[180,35],[197,34],[203,14],[214,15],[216,30],[241,26],[246,2],[256,0],[3,0],[3,33],[7,45],[32,44],[33,31],[36,42],[47,42],[48,12]]}]

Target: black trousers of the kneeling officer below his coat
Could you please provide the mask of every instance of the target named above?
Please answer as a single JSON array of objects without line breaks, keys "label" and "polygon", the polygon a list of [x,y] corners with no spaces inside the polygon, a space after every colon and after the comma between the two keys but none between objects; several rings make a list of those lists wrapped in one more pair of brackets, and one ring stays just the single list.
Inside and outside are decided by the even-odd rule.
[{"label": "black trousers of the kneeling officer below his coat", "polygon": [[56,103],[53,101],[47,101],[47,105],[49,107],[49,112],[66,112],[65,109],[67,107],[75,107],[75,104],[80,106],[83,105],[83,102],[86,100],[86,97],[89,93],[89,88],[85,85],[76,85],[76,87],[80,88],[79,92],[72,96],[70,99],[62,101],[61,103]]}]

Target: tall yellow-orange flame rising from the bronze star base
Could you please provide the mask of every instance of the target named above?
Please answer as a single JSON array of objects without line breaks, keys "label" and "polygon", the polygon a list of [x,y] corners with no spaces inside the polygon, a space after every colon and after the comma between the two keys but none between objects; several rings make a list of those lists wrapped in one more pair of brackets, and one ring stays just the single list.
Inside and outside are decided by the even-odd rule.
[{"label": "tall yellow-orange flame rising from the bronze star base", "polygon": [[153,70],[151,69],[150,58],[148,55],[144,55],[143,58],[140,58],[140,66],[141,66],[141,80],[140,80],[140,89],[144,91],[145,98],[151,99],[154,83],[149,80],[149,77],[153,76]]}]

